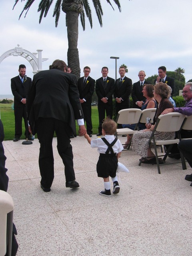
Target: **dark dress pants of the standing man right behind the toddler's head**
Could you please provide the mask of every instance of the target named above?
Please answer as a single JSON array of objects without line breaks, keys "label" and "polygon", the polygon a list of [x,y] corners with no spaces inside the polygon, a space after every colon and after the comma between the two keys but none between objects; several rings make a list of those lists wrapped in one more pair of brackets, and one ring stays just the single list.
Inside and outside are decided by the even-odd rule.
[{"label": "dark dress pants of the standing man right behind the toddler's head", "polygon": [[[99,113],[99,127],[98,132],[102,133],[102,123],[104,121],[104,118],[106,116],[110,116],[110,118],[113,118],[113,105],[109,105],[108,103],[105,104],[98,104],[98,113]],[[106,112],[106,116],[105,116]]]}]

